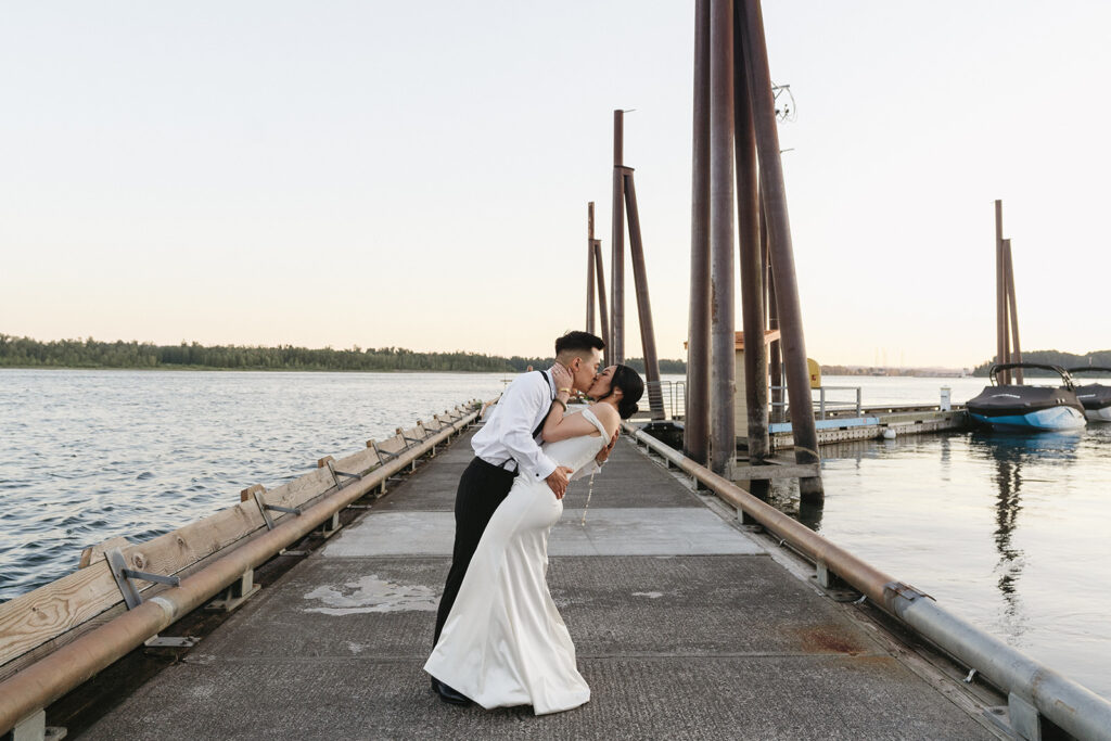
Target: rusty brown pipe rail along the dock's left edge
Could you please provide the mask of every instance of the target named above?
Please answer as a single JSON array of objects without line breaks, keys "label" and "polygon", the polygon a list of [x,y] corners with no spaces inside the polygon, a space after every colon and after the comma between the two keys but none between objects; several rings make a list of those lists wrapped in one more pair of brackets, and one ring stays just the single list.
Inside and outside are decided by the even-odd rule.
[{"label": "rusty brown pipe rail along the dock's left edge", "polygon": [[178,587],[160,592],[0,682],[0,733],[6,733],[30,713],[92,679],[119,658],[142,645],[148,638],[200,608],[234,583],[244,571],[266,563],[283,548],[300,541],[332,514],[466,428],[478,415],[478,411],[472,411],[357,482],[304,509],[301,517],[286,519],[273,530],[231,549],[227,555],[186,577]]}]

